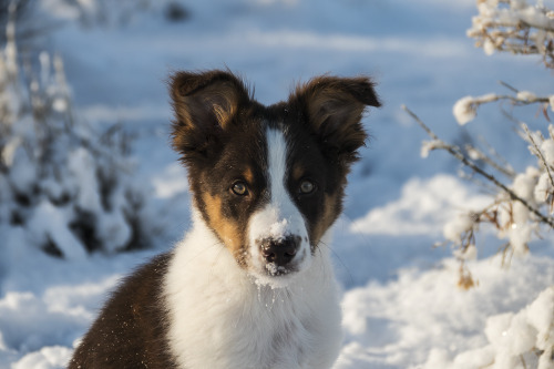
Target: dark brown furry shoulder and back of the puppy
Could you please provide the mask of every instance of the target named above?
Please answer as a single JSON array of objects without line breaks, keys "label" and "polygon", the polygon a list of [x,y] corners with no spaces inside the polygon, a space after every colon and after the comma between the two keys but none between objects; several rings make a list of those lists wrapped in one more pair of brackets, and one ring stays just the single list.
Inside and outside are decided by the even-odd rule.
[{"label": "dark brown furry shoulder and back of the puppy", "polygon": [[175,368],[161,289],[171,255],[155,257],[122,280],[75,349],[70,369]]}]

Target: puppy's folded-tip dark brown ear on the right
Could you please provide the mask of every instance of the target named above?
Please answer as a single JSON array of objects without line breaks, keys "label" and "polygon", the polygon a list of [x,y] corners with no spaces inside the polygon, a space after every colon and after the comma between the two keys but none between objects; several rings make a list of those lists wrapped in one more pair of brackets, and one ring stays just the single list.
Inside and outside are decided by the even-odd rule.
[{"label": "puppy's folded-tip dark brown ear on the right", "polygon": [[290,96],[298,103],[321,144],[349,164],[358,158],[367,133],[361,124],[366,106],[380,106],[373,83],[366,76],[319,76],[299,85]]}]

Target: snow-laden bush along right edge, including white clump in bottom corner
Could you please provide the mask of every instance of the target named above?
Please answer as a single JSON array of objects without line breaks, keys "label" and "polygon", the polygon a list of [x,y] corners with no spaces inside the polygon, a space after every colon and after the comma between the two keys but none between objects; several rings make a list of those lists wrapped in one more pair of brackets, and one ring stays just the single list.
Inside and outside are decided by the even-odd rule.
[{"label": "snow-laden bush along right edge, including white clump in bottom corner", "polygon": [[[525,0],[481,0],[478,1],[478,9],[479,14],[473,18],[468,35],[476,39],[476,45],[483,48],[486,54],[495,51],[540,54],[544,65],[554,69],[554,12],[542,1],[529,4]],[[468,124],[476,117],[480,105],[497,101],[513,106],[538,104],[545,122],[550,122],[554,94],[538,96],[506,83],[503,85],[510,90],[509,94],[489,93],[460,99],[453,106],[458,123]],[[407,107],[404,110],[432,139],[422,145],[423,157],[432,150],[445,150],[473,174],[495,187],[488,206],[461,214],[444,226],[444,238],[455,246],[454,256],[460,260],[460,287],[475,285],[466,260],[476,256],[479,245],[475,245],[475,234],[480,225],[492,225],[496,236],[504,239],[501,247],[503,264],[513,255],[529,253],[530,243],[540,237],[541,232],[554,228],[553,124],[546,123],[542,131],[532,132],[525,123],[506,113],[516,123],[517,133],[527,143],[530,154],[536,158],[535,165],[517,173],[493,147],[482,150],[471,144],[460,147],[447,143],[414,113]],[[554,368],[553,294],[551,287],[517,314],[490,317],[485,327],[489,346],[461,353],[453,362],[447,362],[441,352],[434,352],[425,368]]]}]

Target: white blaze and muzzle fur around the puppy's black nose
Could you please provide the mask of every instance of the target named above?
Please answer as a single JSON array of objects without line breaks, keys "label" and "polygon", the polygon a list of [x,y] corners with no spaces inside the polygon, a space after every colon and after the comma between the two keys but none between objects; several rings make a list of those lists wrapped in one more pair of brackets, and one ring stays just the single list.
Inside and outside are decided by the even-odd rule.
[{"label": "white blaze and muzzle fur around the puppy's black nose", "polygon": [[260,256],[258,243],[261,239],[281,239],[287,236],[298,236],[301,239],[291,267],[297,270],[305,268],[309,263],[310,247],[308,230],[304,216],[293,202],[287,189],[287,141],[281,131],[267,129],[267,180],[270,194],[269,202],[253,214],[248,226],[253,267],[266,269],[265,260]]}]

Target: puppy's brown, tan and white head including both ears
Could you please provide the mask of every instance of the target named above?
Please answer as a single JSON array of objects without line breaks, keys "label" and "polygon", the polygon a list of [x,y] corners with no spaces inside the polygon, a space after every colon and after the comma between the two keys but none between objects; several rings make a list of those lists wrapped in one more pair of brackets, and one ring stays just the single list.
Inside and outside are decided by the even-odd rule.
[{"label": "puppy's brown, tan and white head including both ears", "polygon": [[321,76],[263,106],[228,72],[176,73],[173,144],[203,221],[257,281],[307,269],[341,212],[346,175],[363,145],[366,78]]}]

